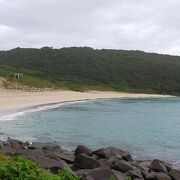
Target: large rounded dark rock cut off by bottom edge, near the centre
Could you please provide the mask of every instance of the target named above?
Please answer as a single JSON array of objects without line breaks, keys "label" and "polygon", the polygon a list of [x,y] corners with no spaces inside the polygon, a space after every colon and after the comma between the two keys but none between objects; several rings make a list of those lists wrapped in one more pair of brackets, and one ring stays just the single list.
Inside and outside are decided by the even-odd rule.
[{"label": "large rounded dark rock cut off by bottom edge, near the centre", "polygon": [[110,180],[114,177],[115,180],[121,180],[110,168],[95,168],[86,174],[87,180]]}]

